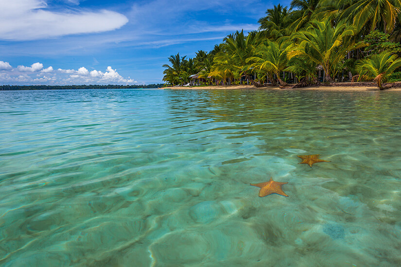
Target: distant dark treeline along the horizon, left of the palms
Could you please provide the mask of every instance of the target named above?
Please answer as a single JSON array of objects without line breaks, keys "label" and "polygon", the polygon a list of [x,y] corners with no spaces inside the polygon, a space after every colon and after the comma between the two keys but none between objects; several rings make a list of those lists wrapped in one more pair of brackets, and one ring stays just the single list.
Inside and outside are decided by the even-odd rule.
[{"label": "distant dark treeline along the horizon, left of the palms", "polygon": [[65,90],[65,89],[139,89],[161,88],[163,83],[147,85],[0,85],[0,91],[4,90]]}]

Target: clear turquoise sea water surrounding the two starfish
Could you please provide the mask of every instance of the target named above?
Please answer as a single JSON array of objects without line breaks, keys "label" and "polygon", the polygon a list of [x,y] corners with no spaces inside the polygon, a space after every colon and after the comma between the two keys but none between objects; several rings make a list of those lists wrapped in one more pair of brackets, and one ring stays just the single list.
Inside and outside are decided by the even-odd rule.
[{"label": "clear turquoise sea water surrounding the two starfish", "polygon": [[[401,266],[401,92],[0,103],[1,266]],[[270,177],[289,198],[249,185]]]}]

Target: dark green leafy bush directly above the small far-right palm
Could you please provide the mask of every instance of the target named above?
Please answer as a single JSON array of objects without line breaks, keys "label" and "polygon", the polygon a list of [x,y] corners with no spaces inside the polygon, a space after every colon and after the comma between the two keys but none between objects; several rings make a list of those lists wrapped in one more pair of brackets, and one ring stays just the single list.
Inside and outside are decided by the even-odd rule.
[{"label": "dark green leafy bush directly above the small far-right palm", "polygon": [[364,42],[369,44],[365,48],[366,56],[377,54],[384,50],[390,50],[394,53],[401,53],[400,43],[389,42],[390,34],[373,31],[365,36]]}]

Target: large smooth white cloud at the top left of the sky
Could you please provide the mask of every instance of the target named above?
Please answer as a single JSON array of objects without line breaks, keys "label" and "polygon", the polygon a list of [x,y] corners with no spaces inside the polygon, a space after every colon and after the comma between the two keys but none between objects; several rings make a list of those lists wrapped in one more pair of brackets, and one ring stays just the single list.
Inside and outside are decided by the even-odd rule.
[{"label": "large smooth white cloud at the top left of the sky", "polygon": [[100,33],[121,28],[128,22],[127,17],[108,10],[44,10],[46,1],[0,0],[0,39],[35,40],[77,33]]}]

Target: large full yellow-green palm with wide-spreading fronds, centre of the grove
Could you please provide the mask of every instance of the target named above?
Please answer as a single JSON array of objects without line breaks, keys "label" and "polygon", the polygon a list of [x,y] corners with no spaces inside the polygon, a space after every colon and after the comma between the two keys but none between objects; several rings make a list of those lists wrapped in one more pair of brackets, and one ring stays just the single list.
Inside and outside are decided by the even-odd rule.
[{"label": "large full yellow-green palm with wide-spreading fronds, centre of the grove", "polygon": [[332,26],[330,17],[322,21],[314,20],[306,30],[293,34],[295,46],[289,53],[290,58],[300,55],[309,57],[323,67],[326,81],[332,82],[332,71],[348,51],[365,46],[362,43],[355,44],[349,37],[353,34],[353,27],[344,21]]}]

